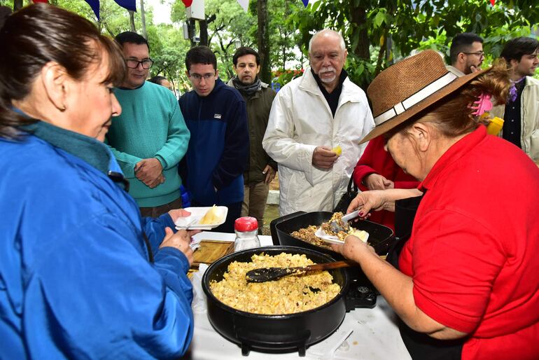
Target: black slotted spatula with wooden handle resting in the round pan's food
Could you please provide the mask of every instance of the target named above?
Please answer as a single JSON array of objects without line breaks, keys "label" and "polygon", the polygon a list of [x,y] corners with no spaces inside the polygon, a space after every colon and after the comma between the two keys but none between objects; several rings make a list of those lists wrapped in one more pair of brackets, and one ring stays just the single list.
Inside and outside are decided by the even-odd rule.
[{"label": "black slotted spatula with wooden handle resting in the round pan's food", "polygon": [[358,263],[351,260],[333,261],[332,263],[321,263],[307,266],[297,266],[295,268],[259,268],[250,270],[245,277],[247,282],[270,282],[272,280],[281,279],[286,275],[304,275],[307,272],[331,270],[338,268],[349,268],[357,266]]}]

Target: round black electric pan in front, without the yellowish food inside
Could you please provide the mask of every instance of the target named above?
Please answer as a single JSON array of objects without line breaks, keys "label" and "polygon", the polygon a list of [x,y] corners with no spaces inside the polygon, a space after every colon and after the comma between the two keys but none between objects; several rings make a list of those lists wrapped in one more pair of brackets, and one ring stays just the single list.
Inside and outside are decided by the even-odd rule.
[{"label": "round black electric pan in front, without the yellowish food inside", "polygon": [[328,270],[341,291],[330,302],[316,309],[286,315],[262,315],[236,310],[221,303],[210,291],[212,281],[220,281],[233,261],[251,262],[253,254],[268,255],[305,254],[314,263],[334,261],[327,254],[300,247],[258,247],[225,256],[212,263],[202,277],[202,287],[207,296],[208,319],[218,333],[241,346],[246,356],[251,349],[262,352],[299,352],[305,356],[309,345],[331,335],[344,319],[346,306],[344,294],[348,291],[349,278],[343,269]]}]

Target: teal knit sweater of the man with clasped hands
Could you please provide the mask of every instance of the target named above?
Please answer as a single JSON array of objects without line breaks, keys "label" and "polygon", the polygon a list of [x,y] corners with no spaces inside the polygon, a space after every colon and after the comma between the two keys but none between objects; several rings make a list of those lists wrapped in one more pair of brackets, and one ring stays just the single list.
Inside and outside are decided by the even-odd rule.
[{"label": "teal knit sweater of the man with clasped hands", "polygon": [[[111,146],[130,194],[139,207],[156,207],[180,197],[178,163],[187,151],[189,130],[170,90],[146,81],[134,90],[116,89],[122,114],[113,118],[106,141]],[[165,183],[148,188],[134,175],[134,166],[145,158],[157,158]]]}]

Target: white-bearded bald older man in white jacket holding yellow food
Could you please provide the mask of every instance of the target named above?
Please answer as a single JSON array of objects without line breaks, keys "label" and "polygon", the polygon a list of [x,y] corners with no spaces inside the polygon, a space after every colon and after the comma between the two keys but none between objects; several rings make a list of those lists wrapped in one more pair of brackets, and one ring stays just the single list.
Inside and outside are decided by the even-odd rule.
[{"label": "white-bearded bald older man in white jacket holding yellow food", "polygon": [[332,211],[374,127],[365,92],[342,68],[342,36],[330,29],[309,41],[309,62],[300,78],[283,86],[269,113],[262,146],[279,164],[281,216]]}]

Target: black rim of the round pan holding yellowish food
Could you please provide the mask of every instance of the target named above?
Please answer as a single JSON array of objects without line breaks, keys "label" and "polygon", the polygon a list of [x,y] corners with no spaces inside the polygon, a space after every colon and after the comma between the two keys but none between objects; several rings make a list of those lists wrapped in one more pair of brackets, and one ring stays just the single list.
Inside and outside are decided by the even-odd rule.
[{"label": "black rim of the round pan holding yellowish food", "polygon": [[222,258],[218,259],[217,261],[215,261],[214,263],[209,265],[209,267],[204,272],[204,276],[202,276],[202,289],[204,289],[204,293],[206,294],[206,296],[208,298],[211,298],[211,300],[214,301],[215,305],[217,305],[221,309],[223,309],[225,311],[228,311],[228,312],[232,312],[232,313],[237,314],[237,315],[241,315],[242,317],[249,317],[249,318],[252,318],[252,319],[277,320],[277,319],[293,319],[295,317],[304,317],[306,314],[311,314],[313,312],[317,312],[321,308],[329,307],[332,304],[337,303],[337,301],[341,300],[341,298],[343,296],[345,296],[346,293],[348,292],[349,285],[350,285],[349,275],[348,275],[348,273],[346,271],[344,271],[344,269],[335,269],[335,270],[342,271],[342,275],[344,277],[344,284],[343,284],[343,286],[341,286],[341,290],[339,291],[339,293],[337,293],[335,298],[332,298],[330,301],[328,301],[328,303],[325,303],[323,305],[315,307],[314,309],[307,310],[307,311],[302,311],[302,312],[295,312],[293,314],[280,314],[280,315],[255,314],[253,312],[245,312],[245,311],[242,311],[242,310],[237,310],[234,307],[230,307],[230,306],[222,303],[221,300],[216,298],[214,296],[214,294],[211,293],[211,290],[209,289],[209,286],[207,286],[207,277],[209,276],[209,274],[211,274],[212,270],[214,268],[216,268],[218,265],[221,265],[221,263],[225,263],[230,258],[235,258],[235,257],[237,257],[237,256],[239,256],[241,254],[246,254],[246,253],[255,254],[255,251],[263,252],[264,250],[272,250],[272,251],[276,250],[276,251],[281,251],[282,252],[282,251],[286,251],[286,250],[288,250],[288,251],[290,251],[290,250],[297,251],[297,249],[300,249],[301,254],[305,254],[307,257],[309,256],[309,254],[307,254],[307,253],[311,252],[311,253],[316,254],[317,256],[322,256],[323,258],[327,258],[328,261],[335,261],[334,258],[329,256],[328,254],[324,254],[321,251],[305,249],[305,248],[302,248],[302,247],[286,246],[286,245],[269,246],[269,247],[257,247],[257,248],[253,248],[253,249],[242,250],[242,251],[238,251],[238,252],[235,252],[235,253],[232,253],[232,254],[228,254],[227,256],[223,256]]}]

